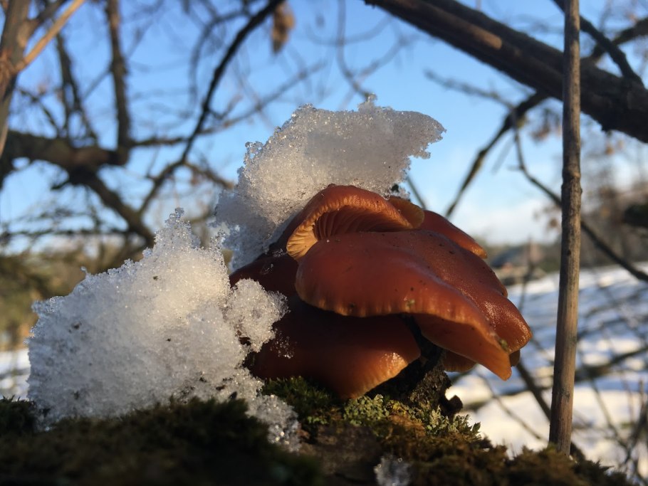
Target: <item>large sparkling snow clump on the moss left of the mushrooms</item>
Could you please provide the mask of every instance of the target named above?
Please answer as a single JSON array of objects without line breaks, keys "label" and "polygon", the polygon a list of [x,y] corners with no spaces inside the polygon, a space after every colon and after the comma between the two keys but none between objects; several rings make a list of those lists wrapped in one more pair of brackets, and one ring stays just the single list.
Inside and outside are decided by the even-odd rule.
[{"label": "large sparkling snow clump on the moss left of the mushrooms", "polygon": [[[218,247],[200,248],[177,209],[137,263],[85,276],[66,297],[36,302],[28,398],[45,423],[117,416],[178,399],[244,398],[291,442],[294,413],[242,363],[273,336],[284,298],[252,280],[230,288]],[[239,341],[249,338],[249,344]]]}]

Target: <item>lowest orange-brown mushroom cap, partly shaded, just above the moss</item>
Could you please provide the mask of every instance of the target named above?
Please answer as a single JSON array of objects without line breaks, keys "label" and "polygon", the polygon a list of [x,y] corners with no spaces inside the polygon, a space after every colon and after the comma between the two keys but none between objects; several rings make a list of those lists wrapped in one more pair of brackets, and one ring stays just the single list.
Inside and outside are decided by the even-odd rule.
[{"label": "lowest orange-brown mushroom cap, partly shaded, just above the moss", "polygon": [[341,398],[356,398],[399,374],[420,350],[398,316],[344,317],[299,300],[276,322],[276,337],[254,357],[258,377],[308,376]]}]

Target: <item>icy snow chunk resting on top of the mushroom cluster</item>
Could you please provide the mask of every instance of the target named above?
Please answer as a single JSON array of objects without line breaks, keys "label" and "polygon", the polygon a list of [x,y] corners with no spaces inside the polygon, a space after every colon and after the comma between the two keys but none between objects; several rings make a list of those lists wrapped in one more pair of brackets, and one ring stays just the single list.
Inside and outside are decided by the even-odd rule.
[{"label": "icy snow chunk resting on top of the mushroom cluster", "polygon": [[265,145],[249,145],[236,189],[216,206],[224,244],[235,250],[234,267],[263,253],[283,224],[328,184],[387,196],[404,180],[409,157],[429,157],[427,145],[442,132],[427,115],[377,107],[372,99],[357,112],[301,107]]}]

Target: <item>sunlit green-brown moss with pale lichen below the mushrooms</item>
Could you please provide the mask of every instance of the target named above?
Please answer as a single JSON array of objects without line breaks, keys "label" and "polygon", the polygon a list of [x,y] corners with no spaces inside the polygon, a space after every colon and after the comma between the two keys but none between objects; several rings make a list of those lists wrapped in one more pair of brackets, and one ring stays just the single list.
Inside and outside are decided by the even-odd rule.
[{"label": "sunlit green-brown moss with pale lichen below the mushrooms", "polygon": [[[393,455],[412,464],[413,485],[631,484],[620,473],[552,448],[523,450],[510,459],[505,447],[479,434],[479,424],[449,413],[439,401],[414,403],[375,394],[342,402],[301,378],[272,381],[266,390],[288,401],[302,423],[310,424],[305,450],[318,457],[329,480],[366,480],[381,455]],[[356,450],[367,452],[352,456]]]}]

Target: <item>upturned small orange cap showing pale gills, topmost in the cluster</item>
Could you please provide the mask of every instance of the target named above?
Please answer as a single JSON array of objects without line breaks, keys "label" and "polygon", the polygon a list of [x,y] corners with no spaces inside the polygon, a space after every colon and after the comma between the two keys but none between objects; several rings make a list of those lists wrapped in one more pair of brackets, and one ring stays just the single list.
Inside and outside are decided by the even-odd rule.
[{"label": "upturned small orange cap showing pale gills, topmost in the cluster", "polygon": [[331,184],[315,194],[288,225],[286,232],[293,231],[286,250],[300,260],[313,243],[335,235],[416,228],[423,221],[422,211],[409,201],[401,199],[394,206],[375,192]]}]

